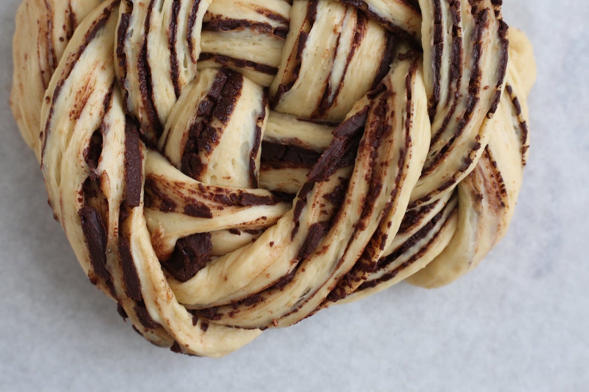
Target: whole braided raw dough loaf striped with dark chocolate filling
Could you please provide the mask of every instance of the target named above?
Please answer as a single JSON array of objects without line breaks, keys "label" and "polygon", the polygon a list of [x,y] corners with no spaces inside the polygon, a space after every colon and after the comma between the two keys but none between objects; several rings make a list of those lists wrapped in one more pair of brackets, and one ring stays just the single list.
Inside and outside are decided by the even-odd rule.
[{"label": "whole braided raw dough loaf striped with dark chocolate filling", "polygon": [[16,121],[138,333],[222,356],[403,279],[447,284],[504,236],[530,43],[501,1],[417,3],[22,3]]}]

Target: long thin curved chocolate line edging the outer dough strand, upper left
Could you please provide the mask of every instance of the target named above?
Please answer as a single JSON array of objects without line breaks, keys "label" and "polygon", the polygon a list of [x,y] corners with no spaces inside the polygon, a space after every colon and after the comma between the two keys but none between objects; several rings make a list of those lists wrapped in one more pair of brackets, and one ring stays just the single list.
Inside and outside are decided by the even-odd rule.
[{"label": "long thin curved chocolate line edging the outer dough strand, upper left", "polygon": [[84,42],[78,48],[78,52],[76,52],[74,55],[68,56],[67,67],[61,72],[61,78],[59,78],[59,81],[55,86],[55,90],[53,92],[53,96],[51,99],[51,106],[49,108],[47,122],[45,122],[45,132],[42,133],[43,141],[41,146],[41,156],[45,155],[45,146],[47,145],[47,139],[49,138],[49,129],[51,128],[51,121],[53,119],[53,114],[55,110],[55,101],[57,101],[57,98],[61,94],[61,91],[64,88],[65,81],[67,81],[72,71],[74,71],[74,68],[78,63],[78,60],[82,56],[82,53],[84,53],[88,45],[90,45],[90,42],[92,42],[92,40],[96,37],[98,32],[100,32],[104,25],[107,23],[107,20],[110,18],[111,12],[116,5],[118,5],[118,3],[115,2],[112,3],[110,6],[104,8],[104,11],[102,11],[100,17],[96,19],[94,22],[92,22],[92,26],[90,27],[90,29],[88,29],[88,32],[84,37]]}]

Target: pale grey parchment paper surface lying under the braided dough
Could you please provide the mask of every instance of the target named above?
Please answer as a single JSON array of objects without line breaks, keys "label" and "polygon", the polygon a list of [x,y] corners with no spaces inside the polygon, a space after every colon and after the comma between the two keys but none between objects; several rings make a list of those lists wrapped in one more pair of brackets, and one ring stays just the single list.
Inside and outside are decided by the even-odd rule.
[{"label": "pale grey parchment paper surface lying under the braided dough", "polygon": [[333,307],[221,360],[146,343],[78,267],[8,108],[18,2],[0,2],[0,390],[587,390],[585,1],[505,0],[535,44],[532,150],[514,223],[477,270]]}]

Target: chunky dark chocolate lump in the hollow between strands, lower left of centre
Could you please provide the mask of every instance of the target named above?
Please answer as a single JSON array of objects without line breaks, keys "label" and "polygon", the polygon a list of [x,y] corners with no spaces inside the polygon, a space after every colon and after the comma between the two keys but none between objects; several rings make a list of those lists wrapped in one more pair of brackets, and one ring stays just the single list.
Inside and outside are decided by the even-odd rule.
[{"label": "chunky dark chocolate lump in the hollow between strands, lower left of centre", "polygon": [[210,233],[197,233],[177,240],[174,253],[161,265],[177,280],[186,282],[211,259],[213,243]]}]

